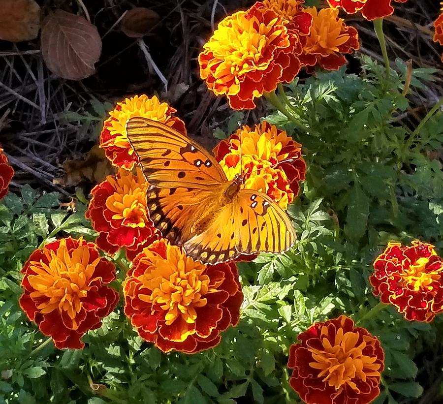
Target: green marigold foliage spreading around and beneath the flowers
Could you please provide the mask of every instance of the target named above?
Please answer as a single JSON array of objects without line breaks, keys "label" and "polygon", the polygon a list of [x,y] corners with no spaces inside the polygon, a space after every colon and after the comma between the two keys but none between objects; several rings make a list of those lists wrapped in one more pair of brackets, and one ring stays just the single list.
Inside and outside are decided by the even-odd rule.
[{"label": "green marigold foliage spreading around and beneath the flowers", "polygon": [[[289,85],[281,96],[294,119],[266,118],[303,144],[307,179],[288,209],[298,240],[284,254],[238,264],[241,320],[214,349],[161,353],[135,333],[122,302],[83,338],[83,350],[46,344],[18,306],[23,262],[56,237],[95,233],[79,202],[71,213],[55,193],[25,186],[21,197],[8,194],[0,203],[0,403],[300,403],[288,384],[289,346],[312,323],[342,313],[383,346],[376,403],[419,397],[414,361],[425,347],[441,346],[443,322],[407,322],[394,308],[374,314],[379,300],[368,277],[388,241],[420,238],[443,252],[442,166],[429,158],[443,141],[443,114],[414,133],[400,119],[408,107],[404,74],[393,71],[386,87],[382,66],[364,57],[362,67],[362,77],[342,69]],[[415,70],[412,86],[430,73]],[[217,137],[242,119],[234,114]],[[121,268],[116,287],[124,277]]]}]

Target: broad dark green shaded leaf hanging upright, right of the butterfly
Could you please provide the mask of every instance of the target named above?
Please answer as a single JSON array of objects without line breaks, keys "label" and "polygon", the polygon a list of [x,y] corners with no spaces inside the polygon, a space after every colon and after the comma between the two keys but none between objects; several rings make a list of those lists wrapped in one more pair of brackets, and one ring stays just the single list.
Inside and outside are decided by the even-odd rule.
[{"label": "broad dark green shaded leaf hanging upright, right of the butterfly", "polygon": [[356,182],[348,193],[348,212],[346,215],[345,234],[357,243],[366,232],[369,216],[369,198]]}]

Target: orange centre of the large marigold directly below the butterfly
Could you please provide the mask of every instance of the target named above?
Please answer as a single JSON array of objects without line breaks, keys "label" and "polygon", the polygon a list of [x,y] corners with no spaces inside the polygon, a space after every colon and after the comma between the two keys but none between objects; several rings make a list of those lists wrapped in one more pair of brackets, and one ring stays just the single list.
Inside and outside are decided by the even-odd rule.
[{"label": "orange centre of the large marigold directly below the butterfly", "polygon": [[[140,294],[139,298],[167,311],[166,325],[171,325],[178,317],[189,324],[194,323],[197,318],[195,308],[206,306],[204,296],[216,292],[219,286],[210,285],[210,278],[205,274],[206,265],[187,257],[179,248],[167,249],[165,259],[156,254],[151,265],[141,281],[152,292],[150,295]],[[182,339],[187,337],[185,334]]]}]

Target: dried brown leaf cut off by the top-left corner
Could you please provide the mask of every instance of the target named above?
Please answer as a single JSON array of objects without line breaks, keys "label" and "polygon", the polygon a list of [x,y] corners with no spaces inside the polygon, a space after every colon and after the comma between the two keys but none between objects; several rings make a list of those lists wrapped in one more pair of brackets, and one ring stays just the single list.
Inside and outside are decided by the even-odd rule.
[{"label": "dried brown leaf cut off by the top-left corner", "polygon": [[0,0],[0,39],[35,39],[40,29],[40,6],[34,0]]}]

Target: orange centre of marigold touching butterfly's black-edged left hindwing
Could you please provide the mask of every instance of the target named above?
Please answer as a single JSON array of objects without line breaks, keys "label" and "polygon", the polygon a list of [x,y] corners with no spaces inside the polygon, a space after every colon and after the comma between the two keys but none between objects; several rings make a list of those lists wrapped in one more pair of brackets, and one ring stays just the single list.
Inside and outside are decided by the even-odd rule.
[{"label": "orange centre of marigold touching butterfly's black-edged left hindwing", "polygon": [[120,178],[109,180],[115,192],[106,199],[106,208],[113,213],[112,219],[122,220],[124,226],[145,227],[148,221],[147,183],[141,172],[137,172],[136,177],[126,170],[120,170],[119,174]]}]

